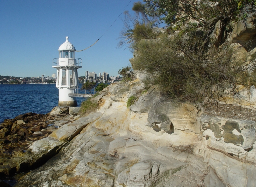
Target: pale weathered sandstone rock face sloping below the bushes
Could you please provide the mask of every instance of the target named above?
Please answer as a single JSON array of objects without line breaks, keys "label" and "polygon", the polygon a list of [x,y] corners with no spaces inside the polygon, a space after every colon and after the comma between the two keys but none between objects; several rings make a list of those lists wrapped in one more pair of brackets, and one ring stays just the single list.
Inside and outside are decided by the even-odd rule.
[{"label": "pale weathered sandstone rock face sloping below the bushes", "polygon": [[[198,116],[193,104],[156,86],[140,94],[136,76],[105,88],[94,100],[97,112],[34,142],[31,152],[63,148],[15,186],[256,185],[255,121]],[[130,96],[139,98],[127,109]]]}]

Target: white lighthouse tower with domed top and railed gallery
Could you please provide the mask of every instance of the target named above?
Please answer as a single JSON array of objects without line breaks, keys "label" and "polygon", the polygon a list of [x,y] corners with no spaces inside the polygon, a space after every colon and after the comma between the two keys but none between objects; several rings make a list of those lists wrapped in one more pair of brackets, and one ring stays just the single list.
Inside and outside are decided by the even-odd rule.
[{"label": "white lighthouse tower with domed top and railed gallery", "polygon": [[56,87],[59,89],[59,106],[77,106],[76,97],[69,96],[78,89],[77,69],[82,68],[82,59],[75,58],[75,46],[66,41],[59,47],[59,58],[53,59],[57,69]]}]

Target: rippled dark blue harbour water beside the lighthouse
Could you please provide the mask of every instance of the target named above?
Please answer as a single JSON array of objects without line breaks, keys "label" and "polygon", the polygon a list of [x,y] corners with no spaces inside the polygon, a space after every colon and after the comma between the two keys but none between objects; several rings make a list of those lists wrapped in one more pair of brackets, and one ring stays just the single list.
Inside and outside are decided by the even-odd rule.
[{"label": "rippled dark blue harbour water beside the lighthouse", "polygon": [[[59,91],[55,84],[2,84],[0,85],[0,123],[4,119],[34,112],[47,114],[58,105]],[[81,85],[80,85],[81,87]],[[77,98],[80,106],[84,98]]]}]

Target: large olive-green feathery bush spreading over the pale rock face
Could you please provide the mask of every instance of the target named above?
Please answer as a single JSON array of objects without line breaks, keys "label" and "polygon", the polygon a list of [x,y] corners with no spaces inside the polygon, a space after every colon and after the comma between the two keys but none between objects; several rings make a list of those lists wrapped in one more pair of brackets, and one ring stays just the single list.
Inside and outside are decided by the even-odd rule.
[{"label": "large olive-green feathery bush spreading over the pale rock face", "polygon": [[[182,100],[202,101],[205,97],[215,102],[222,97],[224,84],[246,84],[248,74],[243,62],[232,57],[229,46],[208,51],[207,32],[190,31],[155,43],[141,41],[137,56],[131,61],[134,70],[144,70],[159,84],[162,91]],[[208,53],[207,53],[208,51]]]}]

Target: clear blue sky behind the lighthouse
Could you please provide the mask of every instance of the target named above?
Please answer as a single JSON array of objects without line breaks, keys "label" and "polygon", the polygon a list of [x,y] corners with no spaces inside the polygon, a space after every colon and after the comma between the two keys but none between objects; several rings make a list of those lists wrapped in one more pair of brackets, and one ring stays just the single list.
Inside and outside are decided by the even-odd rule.
[{"label": "clear blue sky behind the lighthouse", "polygon": [[[132,0],[126,10],[132,12]],[[8,0],[0,1],[0,75],[17,77],[51,76],[56,73],[52,59],[69,37],[76,50],[93,44],[111,26],[130,0]],[[108,72],[129,65],[133,55],[117,48],[123,28],[120,18],[91,48],[77,52],[85,71]]]}]

